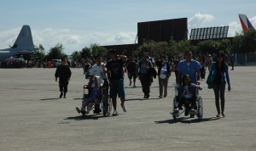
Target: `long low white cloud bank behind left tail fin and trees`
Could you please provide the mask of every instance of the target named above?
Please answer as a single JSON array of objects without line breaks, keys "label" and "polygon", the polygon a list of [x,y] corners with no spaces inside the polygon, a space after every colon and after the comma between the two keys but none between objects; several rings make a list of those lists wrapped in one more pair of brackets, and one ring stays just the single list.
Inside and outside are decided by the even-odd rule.
[{"label": "long low white cloud bank behind left tail fin and trees", "polygon": [[[20,29],[9,31],[0,31],[0,48],[9,48],[17,38]],[[90,47],[90,44],[97,43],[100,45],[115,45],[134,43],[137,32],[94,32],[86,33],[84,31],[74,31],[69,29],[52,29],[44,30],[32,29],[32,38],[34,45],[42,44],[45,52],[48,53],[50,48],[61,43],[64,47],[64,53],[71,54],[74,51],[80,51],[82,48]]]}]

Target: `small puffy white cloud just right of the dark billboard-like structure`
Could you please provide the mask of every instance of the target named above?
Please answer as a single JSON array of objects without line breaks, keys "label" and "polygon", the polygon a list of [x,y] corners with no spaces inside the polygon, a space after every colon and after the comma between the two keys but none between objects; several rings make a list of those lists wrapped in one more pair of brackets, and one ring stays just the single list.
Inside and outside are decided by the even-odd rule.
[{"label": "small puffy white cloud just right of the dark billboard-like structure", "polygon": [[200,12],[195,14],[191,19],[188,20],[189,29],[201,28],[207,22],[214,20],[212,14],[201,14]]}]

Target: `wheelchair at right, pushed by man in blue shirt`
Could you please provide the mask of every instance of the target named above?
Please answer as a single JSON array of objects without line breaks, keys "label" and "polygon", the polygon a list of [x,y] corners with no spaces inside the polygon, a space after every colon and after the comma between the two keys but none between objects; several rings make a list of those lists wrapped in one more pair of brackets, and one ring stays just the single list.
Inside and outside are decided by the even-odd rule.
[{"label": "wheelchair at right, pushed by man in blue shirt", "polygon": [[[181,103],[181,100],[178,99],[177,97],[177,88],[175,87],[175,98],[173,98],[173,103],[172,103],[172,118],[173,120],[177,120],[177,117],[181,114],[183,114],[184,112],[189,112],[189,109],[191,107],[191,103],[188,104],[188,102],[186,103]],[[195,103],[196,103],[196,108],[195,108],[195,115],[197,116],[198,120],[201,120],[203,117],[203,102],[202,102],[202,98],[199,95],[199,89],[196,89],[196,95],[195,95]],[[175,111],[175,109],[178,109]],[[193,115],[191,115],[189,113],[190,117],[193,117]]]}]

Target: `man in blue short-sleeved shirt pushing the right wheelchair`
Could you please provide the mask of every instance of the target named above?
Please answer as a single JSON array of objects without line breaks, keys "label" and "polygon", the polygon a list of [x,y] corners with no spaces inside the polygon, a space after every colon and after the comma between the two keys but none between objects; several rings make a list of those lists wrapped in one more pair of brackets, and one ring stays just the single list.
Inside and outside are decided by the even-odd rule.
[{"label": "man in blue short-sleeved shirt pushing the right wheelchair", "polygon": [[177,65],[177,81],[178,84],[182,83],[182,76],[189,75],[191,83],[198,83],[200,80],[201,64],[192,59],[191,51],[184,53],[185,59]]}]

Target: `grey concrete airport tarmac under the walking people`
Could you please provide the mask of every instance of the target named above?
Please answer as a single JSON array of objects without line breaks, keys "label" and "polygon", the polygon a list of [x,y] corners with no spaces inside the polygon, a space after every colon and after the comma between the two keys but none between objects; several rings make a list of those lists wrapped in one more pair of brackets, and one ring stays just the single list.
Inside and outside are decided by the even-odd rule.
[{"label": "grey concrete airport tarmac under the walking people", "polygon": [[[149,99],[125,78],[127,112],[118,116],[79,115],[82,69],[72,69],[67,98],[59,99],[55,69],[0,69],[0,150],[255,150],[256,66],[230,70],[225,118],[217,115],[214,94],[201,81],[203,119],[172,120],[174,73],[167,98],[159,99],[154,79]],[[208,73],[208,72],[207,72]],[[125,76],[126,77],[126,76]]]}]

